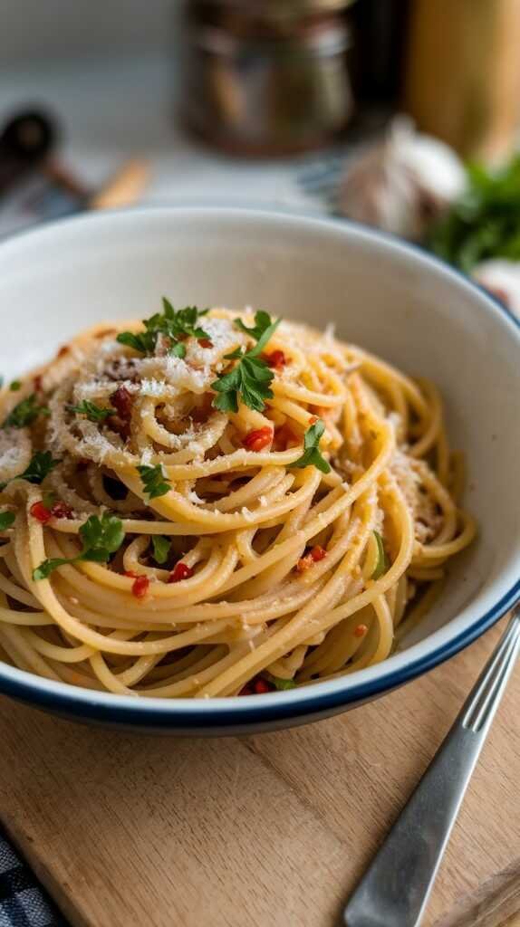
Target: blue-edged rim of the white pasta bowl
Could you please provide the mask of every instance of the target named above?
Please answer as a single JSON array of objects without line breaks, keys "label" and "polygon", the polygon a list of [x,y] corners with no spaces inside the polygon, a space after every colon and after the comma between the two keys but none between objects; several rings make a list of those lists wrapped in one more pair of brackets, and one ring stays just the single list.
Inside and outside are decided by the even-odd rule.
[{"label": "blue-edged rim of the white pasta bowl", "polygon": [[[231,217],[239,217],[240,214],[254,218],[255,215],[261,218],[267,216],[281,221],[284,219],[295,219],[306,225],[331,226],[339,228],[348,226],[352,229],[360,229],[365,234],[374,238],[379,238],[396,247],[419,253],[421,257],[432,264],[437,264],[444,273],[462,279],[466,286],[476,290],[485,296],[488,303],[495,311],[513,323],[514,327],[520,331],[520,319],[510,311],[500,299],[496,298],[485,286],[476,283],[471,277],[455,267],[452,267],[447,261],[438,258],[426,248],[420,245],[400,239],[397,235],[383,232],[380,229],[374,229],[372,226],[361,222],[351,222],[349,220],[337,219],[336,217],[315,217],[303,216],[300,213],[276,212],[273,210],[247,209],[247,208],[223,208],[223,207],[203,207],[193,205],[175,205],[175,206],[143,206],[133,210],[114,210],[118,213],[132,212],[175,212],[190,211],[194,214],[200,213],[226,213]],[[114,212],[110,214],[113,216]],[[85,219],[98,220],[98,216],[79,216],[59,220],[32,229],[27,232],[20,232],[12,235],[2,245],[8,246],[13,239],[20,237],[26,238],[32,235],[38,235],[46,229],[56,228],[64,223],[84,222]],[[261,698],[256,695],[241,697],[240,699],[209,699],[209,700],[169,700],[169,699],[143,699],[139,702],[139,707],[133,707],[134,699],[128,696],[119,696],[110,692],[89,692],[86,689],[60,685],[67,689],[67,692],[61,693],[52,689],[41,688],[41,685],[48,680],[42,680],[40,677],[25,673],[22,670],[15,670],[20,676],[27,676],[30,681],[25,682],[23,679],[7,679],[0,671],[0,692],[9,695],[12,698],[22,702],[27,702],[35,707],[49,709],[62,714],[65,717],[76,717],[78,719],[93,719],[115,724],[124,724],[136,728],[154,728],[162,730],[209,730],[212,728],[222,729],[222,732],[233,730],[234,728],[242,729],[252,727],[255,724],[266,724],[276,721],[291,721],[298,718],[311,721],[315,717],[325,716],[342,707],[347,708],[349,705],[361,704],[362,702],[374,699],[385,692],[391,692],[399,688],[406,682],[423,675],[434,667],[449,660],[451,656],[458,654],[469,644],[476,641],[485,631],[491,628],[507,611],[513,608],[514,604],[520,601],[520,578],[516,580],[511,589],[507,590],[501,599],[484,613],[476,618],[471,626],[464,629],[457,637],[444,644],[440,644],[430,654],[419,656],[411,663],[406,664],[395,670],[378,677],[377,679],[368,679],[360,681],[357,686],[352,686],[347,692],[339,689],[336,692],[319,692],[320,683],[305,687],[298,690],[305,693],[305,697],[294,700],[287,699],[292,696],[295,690],[289,692],[272,692]],[[352,677],[350,677],[352,679]],[[39,685],[40,683],[40,685]],[[101,696],[101,697],[100,697]],[[160,707],[157,705],[160,702]],[[206,710],[197,709],[197,702],[204,702]],[[154,704],[156,703],[156,704]],[[181,704],[182,703],[182,704]],[[189,710],[185,710],[188,709]],[[212,710],[208,710],[208,709]]]}]

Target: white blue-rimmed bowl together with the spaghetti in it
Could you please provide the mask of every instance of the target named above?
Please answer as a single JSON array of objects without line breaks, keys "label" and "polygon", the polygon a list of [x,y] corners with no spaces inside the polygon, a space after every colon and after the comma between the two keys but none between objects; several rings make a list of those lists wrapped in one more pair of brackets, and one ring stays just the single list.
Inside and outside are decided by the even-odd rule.
[{"label": "white blue-rimmed bowl together with the spaghetti in it", "polygon": [[0,692],[283,727],[517,598],[518,324],[420,250],[247,210],[88,216],[2,245],[0,312]]}]

